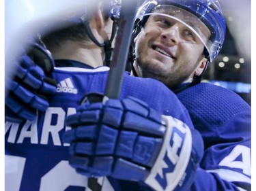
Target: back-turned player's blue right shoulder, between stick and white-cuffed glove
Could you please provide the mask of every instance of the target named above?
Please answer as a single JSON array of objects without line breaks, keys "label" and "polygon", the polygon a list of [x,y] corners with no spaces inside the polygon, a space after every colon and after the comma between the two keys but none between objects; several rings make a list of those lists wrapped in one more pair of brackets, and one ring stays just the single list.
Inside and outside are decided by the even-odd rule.
[{"label": "back-turned player's blue right shoulder, between stick and white-cuffed glove", "polygon": [[160,114],[173,116],[193,128],[188,110],[165,84],[151,78],[124,75],[121,98],[130,95],[145,101]]}]

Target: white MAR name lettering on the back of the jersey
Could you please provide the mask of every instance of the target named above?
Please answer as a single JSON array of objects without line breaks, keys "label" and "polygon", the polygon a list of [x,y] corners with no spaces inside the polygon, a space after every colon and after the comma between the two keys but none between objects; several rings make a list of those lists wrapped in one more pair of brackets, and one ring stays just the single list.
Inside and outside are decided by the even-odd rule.
[{"label": "white MAR name lettering on the back of the jersey", "polygon": [[65,126],[66,116],[75,113],[75,108],[68,108],[67,111],[64,111],[61,107],[49,107],[42,124],[38,123],[38,118],[33,122],[27,121],[25,124],[5,122],[5,136],[8,136],[8,143],[29,141],[31,144],[48,145],[52,143],[55,146],[68,146],[68,144],[62,143],[61,135],[70,129],[69,126]]}]

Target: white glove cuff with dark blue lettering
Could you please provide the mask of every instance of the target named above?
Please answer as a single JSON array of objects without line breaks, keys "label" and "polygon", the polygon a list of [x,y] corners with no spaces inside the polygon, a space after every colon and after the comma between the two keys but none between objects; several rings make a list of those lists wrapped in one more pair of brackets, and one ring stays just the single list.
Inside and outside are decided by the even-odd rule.
[{"label": "white glove cuff with dark blue lettering", "polygon": [[162,116],[162,118],[167,124],[167,132],[154,167],[145,179],[145,184],[159,191],[184,190],[183,186],[186,184],[184,180],[195,171],[195,169],[191,171],[190,168],[193,145],[191,131],[180,120],[171,116]]}]

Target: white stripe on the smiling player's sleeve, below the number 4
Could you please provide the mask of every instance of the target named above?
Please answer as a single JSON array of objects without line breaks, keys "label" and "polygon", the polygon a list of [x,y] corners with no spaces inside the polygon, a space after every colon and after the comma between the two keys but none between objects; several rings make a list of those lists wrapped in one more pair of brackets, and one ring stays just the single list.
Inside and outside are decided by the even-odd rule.
[{"label": "white stripe on the smiling player's sleeve, below the number 4", "polygon": [[208,170],[208,173],[217,173],[222,179],[227,181],[243,181],[248,184],[251,184],[251,178],[243,175],[242,173],[238,173],[236,171],[231,171],[227,169],[215,169],[215,170]]}]

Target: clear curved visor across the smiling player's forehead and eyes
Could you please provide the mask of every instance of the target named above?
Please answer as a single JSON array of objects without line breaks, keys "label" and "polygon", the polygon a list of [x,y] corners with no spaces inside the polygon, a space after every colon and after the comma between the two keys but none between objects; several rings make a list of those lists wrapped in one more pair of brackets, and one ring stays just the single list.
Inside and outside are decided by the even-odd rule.
[{"label": "clear curved visor across the smiling player's forehead and eyes", "polygon": [[149,5],[141,7],[141,10],[137,13],[137,18],[142,19],[144,16],[150,16],[150,21],[165,22],[169,27],[179,22],[181,23],[180,25],[182,25],[179,29],[181,41],[188,43],[202,43],[208,52],[210,52],[210,30],[201,20],[199,20],[199,18],[197,18],[197,16],[173,5],[154,6],[154,9],[150,12],[147,12],[150,7]]}]

